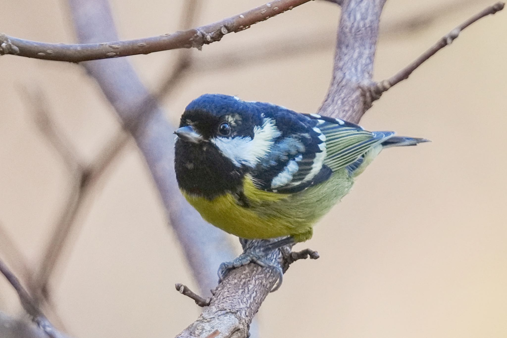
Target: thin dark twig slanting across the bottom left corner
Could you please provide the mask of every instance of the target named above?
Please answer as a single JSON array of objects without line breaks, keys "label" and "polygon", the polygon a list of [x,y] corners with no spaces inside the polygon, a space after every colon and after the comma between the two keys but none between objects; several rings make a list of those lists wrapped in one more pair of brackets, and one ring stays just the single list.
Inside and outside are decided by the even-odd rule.
[{"label": "thin dark twig slanting across the bottom left corner", "polygon": [[[19,280],[9,270],[7,265],[0,259],[0,272],[7,278],[12,287],[16,290],[19,300],[23,309],[32,318],[32,321],[37,324],[50,338],[66,338],[66,335],[56,330],[49,322],[46,316],[37,306],[37,303],[32,299],[28,292],[23,288]],[[28,338],[28,337],[26,337]]]}]

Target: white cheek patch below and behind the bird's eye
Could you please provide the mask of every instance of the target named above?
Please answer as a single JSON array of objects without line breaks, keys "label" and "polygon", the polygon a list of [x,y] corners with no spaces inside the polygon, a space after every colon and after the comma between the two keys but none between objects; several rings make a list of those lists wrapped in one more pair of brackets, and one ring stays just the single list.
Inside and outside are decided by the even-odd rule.
[{"label": "white cheek patch below and behind the bird's eye", "polygon": [[262,126],[253,128],[250,137],[216,137],[210,141],[235,165],[256,166],[271,151],[274,140],[281,135],[272,119],[266,119]]}]

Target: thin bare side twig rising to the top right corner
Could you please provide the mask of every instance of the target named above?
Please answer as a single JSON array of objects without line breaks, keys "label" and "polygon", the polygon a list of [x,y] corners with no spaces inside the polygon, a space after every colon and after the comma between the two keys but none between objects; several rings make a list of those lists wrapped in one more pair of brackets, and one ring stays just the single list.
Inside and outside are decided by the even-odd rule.
[{"label": "thin bare side twig rising to the top right corner", "polygon": [[421,56],[415,59],[412,63],[410,63],[400,72],[394,74],[387,80],[377,82],[373,86],[368,86],[367,88],[365,88],[366,89],[365,92],[367,93],[367,96],[369,96],[367,100],[373,103],[374,100],[380,98],[383,92],[389,90],[392,86],[400,83],[401,81],[408,79],[410,74],[412,74],[412,72],[415,71],[417,67],[419,67],[422,63],[428,60],[431,56],[436,54],[439,50],[450,45],[455,39],[457,39],[459,33],[463,29],[488,15],[492,15],[498,11],[501,11],[504,5],[505,5],[504,3],[499,2],[492,6],[488,6],[481,12],[477,13],[473,17],[470,17],[468,20],[466,20],[465,22],[463,22],[462,24],[451,30],[444,37],[442,37],[436,44],[431,46],[428,50],[426,50],[423,54],[421,54]]}]

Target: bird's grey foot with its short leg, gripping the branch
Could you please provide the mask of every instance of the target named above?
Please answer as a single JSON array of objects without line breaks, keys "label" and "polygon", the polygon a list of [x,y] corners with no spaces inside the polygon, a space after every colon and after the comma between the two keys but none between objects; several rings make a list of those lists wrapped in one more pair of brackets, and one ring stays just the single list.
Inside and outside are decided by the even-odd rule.
[{"label": "bird's grey foot with its short leg, gripping the branch", "polygon": [[261,242],[262,244],[260,245],[252,246],[249,246],[248,241],[245,241],[244,239],[240,239],[240,242],[244,249],[243,253],[230,262],[223,262],[220,264],[218,271],[219,281],[222,282],[229,272],[237,267],[249,263],[256,263],[262,267],[270,268],[273,271],[277,277],[277,282],[271,292],[278,290],[283,281],[283,270],[277,261],[270,259],[269,255],[274,250],[285,245],[294,244],[294,240],[291,237],[288,237],[276,242],[268,244]]}]

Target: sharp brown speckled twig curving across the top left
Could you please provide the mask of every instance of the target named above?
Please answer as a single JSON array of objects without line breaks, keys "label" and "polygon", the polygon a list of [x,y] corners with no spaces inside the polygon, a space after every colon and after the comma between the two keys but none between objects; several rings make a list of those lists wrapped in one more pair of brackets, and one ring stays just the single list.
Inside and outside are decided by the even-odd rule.
[{"label": "sharp brown speckled twig curving across the top left", "polygon": [[[178,48],[201,49],[203,45],[220,41],[230,32],[239,32],[260,21],[291,10],[310,0],[275,0],[273,4],[251,9],[241,14],[193,29],[163,34],[158,37],[86,44],[50,44],[10,37],[0,33],[0,55],[12,54],[44,60],[82,62],[128,55],[149,54]],[[95,40],[95,39],[94,39]]]}]

